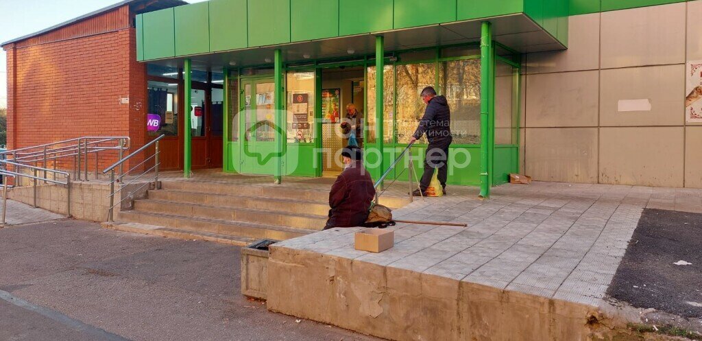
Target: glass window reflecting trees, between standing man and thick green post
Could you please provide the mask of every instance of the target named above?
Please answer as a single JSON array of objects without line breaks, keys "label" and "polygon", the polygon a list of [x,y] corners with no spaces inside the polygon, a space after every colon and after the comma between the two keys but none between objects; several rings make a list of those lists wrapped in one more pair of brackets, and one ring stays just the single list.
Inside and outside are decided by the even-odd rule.
[{"label": "glass window reflecting trees, between standing man and thick green post", "polygon": [[442,62],[439,84],[451,108],[453,143],[480,143],[480,60]]}]

